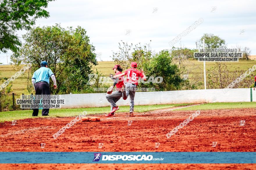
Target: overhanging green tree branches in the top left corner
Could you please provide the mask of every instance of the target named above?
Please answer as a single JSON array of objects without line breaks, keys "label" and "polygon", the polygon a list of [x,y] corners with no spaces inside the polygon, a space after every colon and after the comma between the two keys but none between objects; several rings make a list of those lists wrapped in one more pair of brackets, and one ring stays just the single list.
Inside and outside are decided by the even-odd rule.
[{"label": "overhanging green tree branches in the top left corner", "polygon": [[48,3],[54,0],[1,0],[0,4],[0,51],[17,52],[21,42],[15,32],[29,30],[38,18],[49,17]]}]

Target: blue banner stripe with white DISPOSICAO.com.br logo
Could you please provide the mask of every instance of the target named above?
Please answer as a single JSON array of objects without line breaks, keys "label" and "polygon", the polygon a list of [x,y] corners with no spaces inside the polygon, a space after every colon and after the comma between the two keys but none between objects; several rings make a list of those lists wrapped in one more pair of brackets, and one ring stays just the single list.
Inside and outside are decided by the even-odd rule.
[{"label": "blue banner stripe with white DISPOSICAO.com.br logo", "polygon": [[0,152],[0,163],[240,164],[256,163],[256,152]]}]

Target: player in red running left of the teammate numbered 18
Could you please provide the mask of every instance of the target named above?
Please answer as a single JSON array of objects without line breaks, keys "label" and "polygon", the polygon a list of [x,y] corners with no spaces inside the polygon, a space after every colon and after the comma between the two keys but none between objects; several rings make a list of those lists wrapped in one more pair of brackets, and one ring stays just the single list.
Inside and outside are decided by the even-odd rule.
[{"label": "player in red running left of the teammate numbered 18", "polygon": [[[115,75],[122,74],[123,69],[120,67],[120,65],[115,65],[114,68],[112,68],[115,72]],[[113,87],[116,86],[116,91],[112,92],[111,94],[106,95],[106,99],[111,104],[111,111],[109,114],[105,116],[113,116],[114,112],[119,109],[119,107],[116,105],[116,102],[122,97],[122,87],[124,85],[124,77],[116,78],[113,84]]]}]

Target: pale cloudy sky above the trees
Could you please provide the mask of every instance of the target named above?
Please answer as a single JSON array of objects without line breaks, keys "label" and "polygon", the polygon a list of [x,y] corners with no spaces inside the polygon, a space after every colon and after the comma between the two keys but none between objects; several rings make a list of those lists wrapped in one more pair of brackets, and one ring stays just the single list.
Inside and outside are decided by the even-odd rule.
[{"label": "pale cloudy sky above the trees", "polygon": [[[77,25],[87,30],[96,53],[103,61],[111,61],[118,42],[149,43],[152,50],[170,49],[168,42],[198,19],[204,22],[183,36],[174,46],[195,48],[195,41],[204,33],[225,39],[228,47],[249,47],[256,55],[256,1],[83,1],[50,2],[50,17],[38,19],[36,26],[61,23],[62,27]],[[216,7],[216,10],[212,10]],[[157,8],[155,12],[154,8]],[[244,34],[240,30],[244,29]],[[131,30],[129,35],[126,30]],[[19,31],[21,36],[26,31]],[[8,53],[9,55],[10,53]],[[0,56],[6,56],[1,53]],[[6,58],[0,57],[6,63]]]}]

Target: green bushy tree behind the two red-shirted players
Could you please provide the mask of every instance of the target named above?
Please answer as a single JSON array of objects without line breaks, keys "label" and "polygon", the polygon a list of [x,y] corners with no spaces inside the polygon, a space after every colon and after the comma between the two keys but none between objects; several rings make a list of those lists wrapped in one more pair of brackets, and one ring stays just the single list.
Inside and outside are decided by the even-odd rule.
[{"label": "green bushy tree behind the two red-shirted players", "polygon": [[[143,69],[147,76],[147,83],[139,83],[138,87],[154,87],[157,91],[177,90],[184,82],[181,78],[183,72],[179,68],[180,66],[174,63],[168,50],[154,54],[150,44],[141,46],[138,43],[132,47],[132,44],[128,45],[122,42],[119,43],[119,52],[113,52],[112,58],[123,69],[130,68],[133,61],[138,63],[137,69]],[[156,77],[162,77],[163,82],[154,83]]]}]

